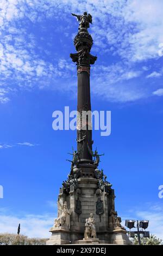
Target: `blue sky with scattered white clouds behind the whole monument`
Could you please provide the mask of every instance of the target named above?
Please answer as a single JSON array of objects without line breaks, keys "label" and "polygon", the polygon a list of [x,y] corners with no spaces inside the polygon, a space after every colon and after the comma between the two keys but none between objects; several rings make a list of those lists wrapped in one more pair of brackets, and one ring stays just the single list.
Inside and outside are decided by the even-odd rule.
[{"label": "blue sky with scattered white clouds behind the whole monument", "polygon": [[111,135],[93,131],[125,218],[148,219],[163,238],[161,0],[1,0],[0,232],[48,237],[67,152],[76,132],[54,131],[54,110],[76,110],[77,74],[70,59],[78,30],[71,13],[93,16],[92,110],[111,110]]}]

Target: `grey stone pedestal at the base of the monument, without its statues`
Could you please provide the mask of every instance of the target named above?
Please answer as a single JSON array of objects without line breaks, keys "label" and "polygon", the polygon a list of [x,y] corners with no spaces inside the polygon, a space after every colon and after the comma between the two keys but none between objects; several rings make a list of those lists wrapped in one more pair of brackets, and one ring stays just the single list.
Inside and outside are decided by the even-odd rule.
[{"label": "grey stone pedestal at the base of the monument, without its statues", "polygon": [[[64,228],[52,228],[52,237],[47,245],[63,245],[76,243],[105,243],[129,245],[130,241],[127,231],[121,228],[112,229],[110,225],[110,210],[114,205],[114,189],[99,189],[97,178],[78,178],[78,187],[71,187],[69,193],[60,190],[58,204],[67,202],[70,215],[70,230]],[[59,209],[60,212],[60,209]],[[85,220],[93,213],[97,239],[83,239],[85,231]],[[112,223],[111,223],[112,224]]]}]

